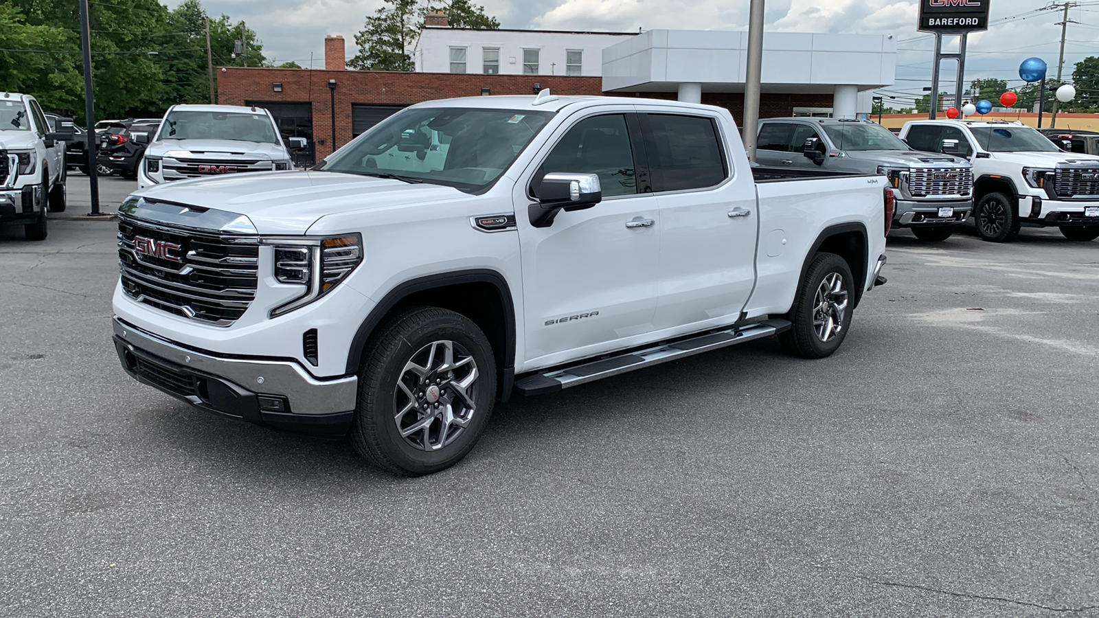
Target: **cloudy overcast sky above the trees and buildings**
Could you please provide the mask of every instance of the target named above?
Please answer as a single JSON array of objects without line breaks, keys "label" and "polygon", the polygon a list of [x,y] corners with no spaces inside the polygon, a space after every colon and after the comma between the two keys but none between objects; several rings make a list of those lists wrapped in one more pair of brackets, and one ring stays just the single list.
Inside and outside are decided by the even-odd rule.
[{"label": "cloudy overcast sky above the trees and buildings", "polygon": [[[990,27],[969,37],[966,80],[998,77],[1009,87],[1020,86],[1019,64],[1039,56],[1056,75],[1061,40],[1061,10],[1036,11],[1046,0],[993,0]],[[889,2],[889,3],[886,3]],[[176,0],[167,0],[175,5]],[[486,12],[502,27],[635,32],[639,27],[686,30],[746,30],[748,0],[482,0]],[[212,14],[243,19],[264,43],[264,52],[278,62],[296,60],[323,66],[325,34],[348,40],[367,13],[381,0],[204,0]],[[1099,0],[1081,0],[1069,11],[1065,44],[1066,76],[1073,64],[1099,55]],[[915,31],[915,0],[767,0],[767,31],[892,34],[898,42],[898,96],[918,96],[931,84],[934,38]],[[953,82],[954,63],[943,62],[942,79]],[[1011,81],[1014,80],[1014,81]],[[947,87],[946,90],[952,90]],[[913,92],[915,95],[913,95]],[[998,96],[996,93],[995,96]]]}]

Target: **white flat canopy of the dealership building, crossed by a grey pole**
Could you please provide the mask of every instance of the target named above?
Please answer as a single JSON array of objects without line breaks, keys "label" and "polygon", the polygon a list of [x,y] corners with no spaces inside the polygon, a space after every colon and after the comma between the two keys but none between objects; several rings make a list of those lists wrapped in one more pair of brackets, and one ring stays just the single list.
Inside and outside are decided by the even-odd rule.
[{"label": "white flat canopy of the dealership building, crossed by a grey pole", "polygon": [[[747,32],[651,30],[603,49],[603,91],[674,92],[701,84],[707,92],[742,92]],[[835,86],[870,90],[893,84],[892,35],[766,32],[764,92],[831,93]]]}]

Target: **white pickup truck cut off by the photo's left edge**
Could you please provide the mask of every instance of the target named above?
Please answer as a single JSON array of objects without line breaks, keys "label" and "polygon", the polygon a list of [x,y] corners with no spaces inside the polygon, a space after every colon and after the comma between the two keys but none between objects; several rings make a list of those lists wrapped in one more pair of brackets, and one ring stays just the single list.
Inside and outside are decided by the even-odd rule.
[{"label": "white pickup truck cut off by the photo's left edge", "polygon": [[46,212],[65,210],[65,142],[30,95],[0,92],[0,223],[22,224],[27,240],[43,241]]}]

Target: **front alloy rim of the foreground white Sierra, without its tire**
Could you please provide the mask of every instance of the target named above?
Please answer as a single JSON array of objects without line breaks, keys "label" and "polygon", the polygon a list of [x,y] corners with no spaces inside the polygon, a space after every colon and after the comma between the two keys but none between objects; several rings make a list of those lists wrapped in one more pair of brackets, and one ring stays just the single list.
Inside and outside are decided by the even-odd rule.
[{"label": "front alloy rim of the foreground white Sierra, without its tire", "polygon": [[477,411],[477,362],[460,344],[435,341],[409,358],[397,378],[393,421],[410,445],[437,451],[454,442]]}]

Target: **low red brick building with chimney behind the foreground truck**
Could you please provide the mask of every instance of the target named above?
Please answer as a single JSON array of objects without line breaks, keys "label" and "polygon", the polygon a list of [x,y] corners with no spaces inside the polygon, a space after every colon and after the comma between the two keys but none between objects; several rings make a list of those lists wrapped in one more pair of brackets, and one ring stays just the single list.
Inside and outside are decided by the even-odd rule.
[{"label": "low red brick building with chimney behind the foreground truck", "polygon": [[[599,77],[346,70],[343,37],[328,37],[324,48],[324,70],[220,68],[218,102],[270,110],[285,136],[309,140],[309,152],[298,156],[298,163],[307,165],[333,152],[333,119],[335,147],[340,147],[397,110],[422,101],[480,95],[533,96],[545,88],[556,95],[603,93]],[[674,92],[645,96],[676,98]],[[724,107],[737,123],[742,120],[743,93],[704,92],[702,102]],[[776,118],[792,115],[795,108],[830,107],[832,95],[765,93],[759,115]]]}]

